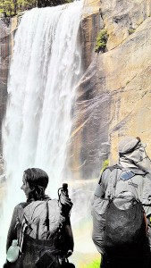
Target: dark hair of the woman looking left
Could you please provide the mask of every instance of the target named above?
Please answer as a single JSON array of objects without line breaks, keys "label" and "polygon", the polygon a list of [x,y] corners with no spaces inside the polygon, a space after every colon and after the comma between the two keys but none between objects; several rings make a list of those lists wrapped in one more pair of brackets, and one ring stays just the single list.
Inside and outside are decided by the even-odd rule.
[{"label": "dark hair of the woman looking left", "polygon": [[38,168],[31,168],[24,171],[24,177],[31,189],[28,201],[43,200],[49,180],[47,173]]}]

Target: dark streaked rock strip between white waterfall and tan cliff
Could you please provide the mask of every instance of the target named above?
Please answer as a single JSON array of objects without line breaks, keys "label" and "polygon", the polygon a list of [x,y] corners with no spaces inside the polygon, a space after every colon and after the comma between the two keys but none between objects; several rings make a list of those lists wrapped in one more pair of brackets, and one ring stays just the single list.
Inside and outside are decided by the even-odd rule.
[{"label": "dark streaked rock strip between white waterfall and tan cliff", "polygon": [[[71,132],[70,166],[72,178],[92,179],[108,158],[108,128],[111,97],[104,88],[105,73],[97,73],[96,37],[104,28],[99,9],[80,23],[80,43],[84,75],[77,90]],[[94,59],[96,59],[94,61]],[[101,80],[100,80],[101,79]]]}]

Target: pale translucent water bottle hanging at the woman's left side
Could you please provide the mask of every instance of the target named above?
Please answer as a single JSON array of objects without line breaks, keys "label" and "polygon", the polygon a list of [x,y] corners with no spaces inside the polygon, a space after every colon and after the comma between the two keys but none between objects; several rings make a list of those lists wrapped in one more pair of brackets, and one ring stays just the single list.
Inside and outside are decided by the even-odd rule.
[{"label": "pale translucent water bottle hanging at the woman's left side", "polygon": [[14,263],[19,257],[19,246],[17,244],[18,240],[13,240],[12,246],[7,250],[6,259],[10,263]]}]

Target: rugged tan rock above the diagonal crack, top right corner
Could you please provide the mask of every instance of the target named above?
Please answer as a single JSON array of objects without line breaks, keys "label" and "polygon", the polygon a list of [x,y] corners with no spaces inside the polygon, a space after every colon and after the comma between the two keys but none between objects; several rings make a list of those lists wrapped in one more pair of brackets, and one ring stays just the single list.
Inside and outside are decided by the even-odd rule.
[{"label": "rugged tan rock above the diagonal crack, top right corner", "polygon": [[102,0],[101,13],[109,34],[107,49],[110,50],[122,44],[130,30],[137,29],[151,15],[151,3],[148,0]]}]

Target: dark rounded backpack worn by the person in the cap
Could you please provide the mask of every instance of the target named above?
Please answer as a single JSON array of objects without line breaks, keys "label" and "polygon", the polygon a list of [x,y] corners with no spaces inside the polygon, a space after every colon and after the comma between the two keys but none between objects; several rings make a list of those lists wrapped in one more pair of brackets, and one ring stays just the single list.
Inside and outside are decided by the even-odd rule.
[{"label": "dark rounded backpack worn by the person in the cap", "polygon": [[[128,172],[126,180],[131,179],[131,176],[133,175]],[[119,183],[117,171],[115,177],[114,180],[111,178],[114,190]],[[129,191],[121,192],[117,196],[113,193],[105,214],[105,252],[116,256],[142,254],[146,240],[146,214],[138,197]]]}]

